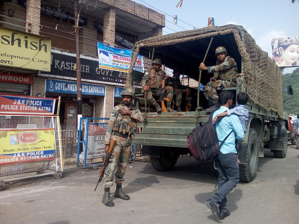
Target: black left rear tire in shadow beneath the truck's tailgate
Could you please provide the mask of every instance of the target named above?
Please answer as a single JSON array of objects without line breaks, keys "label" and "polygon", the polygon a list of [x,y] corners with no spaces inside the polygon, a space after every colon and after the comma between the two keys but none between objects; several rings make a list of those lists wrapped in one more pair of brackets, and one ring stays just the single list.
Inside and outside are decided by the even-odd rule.
[{"label": "black left rear tire in shadow beneath the truck's tailgate", "polygon": [[170,171],[176,165],[179,154],[171,148],[160,147],[160,157],[150,157],[152,166],[157,171]]}]

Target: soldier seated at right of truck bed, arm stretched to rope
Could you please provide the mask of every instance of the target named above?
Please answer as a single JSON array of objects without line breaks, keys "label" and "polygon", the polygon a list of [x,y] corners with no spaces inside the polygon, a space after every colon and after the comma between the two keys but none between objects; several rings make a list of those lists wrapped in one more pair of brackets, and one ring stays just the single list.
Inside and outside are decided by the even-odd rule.
[{"label": "soldier seated at right of truck bed, arm stretched to rope", "polygon": [[219,108],[218,95],[216,90],[226,87],[235,87],[236,83],[233,81],[238,73],[237,63],[232,57],[227,56],[225,47],[218,47],[215,50],[217,62],[215,66],[206,66],[200,63],[200,68],[208,70],[208,73],[214,73],[210,82],[202,88],[202,91],[208,100],[209,108],[204,111],[212,112]]}]

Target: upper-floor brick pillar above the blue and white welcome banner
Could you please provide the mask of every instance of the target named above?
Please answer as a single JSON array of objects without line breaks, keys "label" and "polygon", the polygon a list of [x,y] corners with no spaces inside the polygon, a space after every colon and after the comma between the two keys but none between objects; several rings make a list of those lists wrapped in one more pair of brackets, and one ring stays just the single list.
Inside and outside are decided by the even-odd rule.
[{"label": "upper-floor brick pillar above the blue and white welcome banner", "polygon": [[115,44],[115,9],[105,9],[104,15],[104,43],[114,47]]}]

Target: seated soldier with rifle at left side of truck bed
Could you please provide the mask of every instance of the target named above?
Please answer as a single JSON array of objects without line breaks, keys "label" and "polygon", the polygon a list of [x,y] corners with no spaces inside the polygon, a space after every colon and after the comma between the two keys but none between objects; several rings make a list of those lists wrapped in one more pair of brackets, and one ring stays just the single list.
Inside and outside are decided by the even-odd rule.
[{"label": "seated soldier with rifle at left side of truck bed", "polygon": [[[155,99],[153,98],[152,93],[161,93],[162,81],[165,78],[165,73],[162,71],[161,65],[161,59],[154,59],[152,62],[153,69],[150,70],[150,72],[145,72],[141,80],[141,86],[143,88],[141,92],[144,93],[146,95],[146,99],[148,99],[150,103],[156,107],[157,113],[162,112],[162,109],[157,101],[155,101]],[[174,88],[172,86],[165,86],[164,90],[166,98],[168,99],[166,109],[167,111],[173,111],[173,109],[171,108],[171,102],[174,94]]]}]

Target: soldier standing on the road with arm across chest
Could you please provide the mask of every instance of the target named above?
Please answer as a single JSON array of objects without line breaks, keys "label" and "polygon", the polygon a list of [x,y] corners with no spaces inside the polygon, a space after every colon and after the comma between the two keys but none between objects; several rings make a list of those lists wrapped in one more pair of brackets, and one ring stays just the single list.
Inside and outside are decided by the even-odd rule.
[{"label": "soldier standing on the road with arm across chest", "polygon": [[105,193],[102,202],[108,206],[114,206],[110,199],[110,187],[113,185],[115,175],[116,190],[114,197],[129,200],[130,197],[123,193],[122,183],[128,159],[131,157],[132,135],[137,129],[137,122],[143,122],[143,116],[132,101],[135,98],[134,90],[131,88],[123,90],[123,102],[115,106],[111,112],[108,128],[105,136],[105,152],[110,147],[111,138],[115,138],[113,147],[113,159],[106,168],[104,175]]}]

